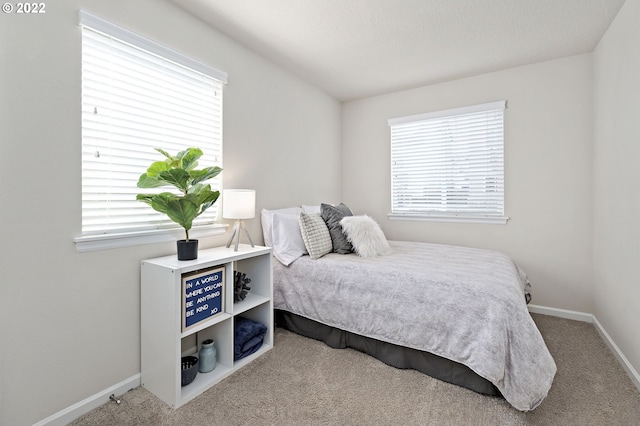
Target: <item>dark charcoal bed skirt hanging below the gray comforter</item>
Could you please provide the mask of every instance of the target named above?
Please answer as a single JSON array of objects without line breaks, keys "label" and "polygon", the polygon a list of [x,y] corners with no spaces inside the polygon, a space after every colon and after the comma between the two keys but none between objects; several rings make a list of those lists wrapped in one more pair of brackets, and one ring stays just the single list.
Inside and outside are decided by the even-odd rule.
[{"label": "dark charcoal bed skirt hanging below the gray comforter", "polygon": [[429,352],[360,336],[278,309],[275,310],[275,321],[278,327],[320,340],[332,348],[352,348],[396,368],[418,370],[433,378],[465,387],[474,392],[501,396],[500,391],[493,383],[480,377],[466,365]]}]

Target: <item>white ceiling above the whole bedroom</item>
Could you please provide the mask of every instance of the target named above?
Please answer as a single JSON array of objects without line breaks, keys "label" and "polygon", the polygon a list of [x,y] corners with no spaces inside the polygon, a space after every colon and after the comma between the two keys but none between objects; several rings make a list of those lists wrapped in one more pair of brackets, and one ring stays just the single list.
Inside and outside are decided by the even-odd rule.
[{"label": "white ceiling above the whole bedroom", "polygon": [[591,52],[624,0],[171,0],[341,101]]}]

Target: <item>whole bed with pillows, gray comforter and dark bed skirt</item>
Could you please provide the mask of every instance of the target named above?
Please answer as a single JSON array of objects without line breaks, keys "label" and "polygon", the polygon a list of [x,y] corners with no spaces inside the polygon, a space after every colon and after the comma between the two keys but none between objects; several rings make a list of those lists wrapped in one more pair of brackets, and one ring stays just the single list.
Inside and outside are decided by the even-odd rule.
[{"label": "whole bed with pillows, gray comforter and dark bed skirt", "polygon": [[[327,231],[332,227],[326,216],[320,221],[319,213],[295,209],[285,215],[265,223],[263,211],[265,243],[278,258],[273,281],[279,326],[333,347],[361,350],[395,367],[501,395],[521,411],[535,409],[546,397],[556,365],[527,310],[530,284],[508,256],[387,241],[371,218],[365,216],[369,232],[362,233],[350,225],[361,217],[347,222],[347,214],[339,223],[354,243],[351,252],[338,253],[335,244],[326,251],[322,224]],[[315,228],[305,225],[308,218]],[[298,238],[296,221],[302,245],[292,242]],[[287,240],[285,248],[280,237]],[[312,240],[324,240],[325,247],[318,252]],[[376,240],[379,246],[363,255],[367,252],[359,246]]]}]

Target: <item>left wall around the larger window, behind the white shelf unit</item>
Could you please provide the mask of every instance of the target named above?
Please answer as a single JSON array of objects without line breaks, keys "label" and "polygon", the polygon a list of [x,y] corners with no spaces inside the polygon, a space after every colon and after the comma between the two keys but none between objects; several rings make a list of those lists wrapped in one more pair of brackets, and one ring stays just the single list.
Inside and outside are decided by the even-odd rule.
[{"label": "left wall around the larger window, behind the white shelf unit", "polygon": [[[171,3],[56,0],[43,15],[1,14],[2,425],[33,424],[138,374],[139,263],[175,252],[164,243],[78,253],[72,242],[81,229],[80,7],[229,73],[224,185],[256,188],[258,211],[341,190],[340,104]],[[250,230],[261,242],[258,218]]]}]

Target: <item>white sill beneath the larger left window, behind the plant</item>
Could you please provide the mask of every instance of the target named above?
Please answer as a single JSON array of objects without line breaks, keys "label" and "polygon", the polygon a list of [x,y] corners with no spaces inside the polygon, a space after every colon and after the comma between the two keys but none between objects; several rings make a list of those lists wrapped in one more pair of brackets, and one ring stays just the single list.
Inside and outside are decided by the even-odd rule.
[{"label": "white sill beneath the larger left window, behind the plant", "polygon": [[[191,238],[204,238],[224,235],[228,225],[214,224],[194,227],[189,231]],[[73,239],[76,250],[79,252],[109,250],[121,247],[137,246],[142,244],[162,243],[177,241],[184,238],[184,230],[158,229],[153,231],[127,232],[122,234],[85,235]]]}]

